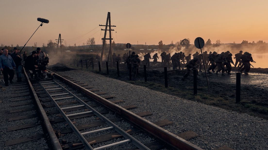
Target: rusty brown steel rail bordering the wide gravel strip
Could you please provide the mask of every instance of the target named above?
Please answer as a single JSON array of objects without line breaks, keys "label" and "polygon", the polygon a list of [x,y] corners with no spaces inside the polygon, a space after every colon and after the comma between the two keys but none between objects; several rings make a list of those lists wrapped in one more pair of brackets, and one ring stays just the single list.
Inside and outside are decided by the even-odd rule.
[{"label": "rusty brown steel rail bordering the wide gravel strip", "polygon": [[[48,69],[47,69],[48,70]],[[52,72],[52,71],[50,71]],[[54,72],[53,72],[54,73]],[[202,150],[202,148],[182,139],[181,137],[174,135],[173,133],[151,123],[150,121],[118,106],[105,98],[83,88],[82,86],[75,84],[72,81],[60,76],[57,73],[54,73],[54,76],[59,80],[66,82],[69,86],[75,88],[79,92],[85,94],[86,96],[92,98],[96,103],[105,106],[107,109],[116,112],[120,117],[124,120],[127,120],[129,123],[133,124],[137,128],[142,131],[148,133],[150,136],[154,137],[161,143],[165,143],[166,145],[175,148],[175,149],[186,149],[186,150]]]}]

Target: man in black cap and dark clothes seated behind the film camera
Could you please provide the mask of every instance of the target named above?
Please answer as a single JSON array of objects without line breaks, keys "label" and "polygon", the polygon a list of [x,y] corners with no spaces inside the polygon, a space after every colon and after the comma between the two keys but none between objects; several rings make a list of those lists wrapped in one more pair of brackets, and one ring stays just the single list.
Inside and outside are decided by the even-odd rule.
[{"label": "man in black cap and dark clothes seated behind the film camera", "polygon": [[[37,56],[36,51],[32,51],[32,55],[27,56],[27,58],[25,59],[24,64],[25,69],[31,70],[33,72],[31,73],[31,78],[33,78],[33,75],[36,74],[35,68],[37,68],[37,65],[34,62],[36,56]],[[37,78],[37,76],[35,76],[35,78]]]}]

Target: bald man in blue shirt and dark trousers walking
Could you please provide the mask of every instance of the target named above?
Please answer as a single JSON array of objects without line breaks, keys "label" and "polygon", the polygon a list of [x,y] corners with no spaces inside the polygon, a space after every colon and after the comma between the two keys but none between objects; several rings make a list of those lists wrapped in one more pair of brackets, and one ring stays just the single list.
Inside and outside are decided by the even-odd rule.
[{"label": "bald man in blue shirt and dark trousers walking", "polygon": [[[12,84],[14,77],[14,70],[16,68],[15,62],[12,57],[8,55],[8,50],[4,49],[3,54],[0,56],[0,70],[3,71],[5,85],[8,86],[8,80]],[[9,78],[8,78],[9,75]]]}]

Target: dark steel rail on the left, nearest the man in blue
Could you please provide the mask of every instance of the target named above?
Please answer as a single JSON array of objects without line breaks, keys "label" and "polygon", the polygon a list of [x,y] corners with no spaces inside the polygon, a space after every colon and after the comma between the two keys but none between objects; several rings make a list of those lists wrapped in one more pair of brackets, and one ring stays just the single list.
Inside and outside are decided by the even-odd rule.
[{"label": "dark steel rail on the left, nearest the man in blue", "polygon": [[42,119],[44,121],[44,125],[46,127],[47,133],[49,134],[50,143],[51,143],[52,147],[55,150],[62,150],[61,144],[59,143],[58,138],[55,135],[55,132],[54,132],[54,130],[53,130],[51,124],[50,124],[49,118],[47,117],[46,112],[43,109],[43,106],[42,106],[41,102],[39,101],[39,98],[38,98],[38,96],[37,96],[32,84],[31,84],[31,82],[29,80],[29,77],[28,77],[24,67],[23,67],[23,72],[24,72],[24,76],[26,78],[27,84],[29,85],[29,90],[31,91],[31,93],[33,95],[35,103],[36,103],[36,105],[38,107],[38,111],[41,114],[41,117],[42,117]]}]

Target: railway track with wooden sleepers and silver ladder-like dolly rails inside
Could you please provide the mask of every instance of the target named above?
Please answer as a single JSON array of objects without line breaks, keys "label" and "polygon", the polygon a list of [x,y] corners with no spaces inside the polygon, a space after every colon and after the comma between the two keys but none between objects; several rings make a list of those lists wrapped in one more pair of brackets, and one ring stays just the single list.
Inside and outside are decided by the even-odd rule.
[{"label": "railway track with wooden sleepers and silver ladder-like dolly rails inside", "polygon": [[[161,127],[172,124],[169,120],[151,123],[142,117],[151,112],[132,113],[128,109],[136,106],[118,106],[124,100],[109,101],[114,96],[99,92],[92,86],[83,84],[67,76],[60,76],[53,70],[56,79],[35,81],[25,73],[25,85],[29,89],[42,123],[29,123],[13,127],[13,131],[30,129],[43,124],[43,134],[32,135],[28,141],[47,137],[51,149],[201,149],[196,145],[164,130]],[[21,91],[23,92],[23,91]],[[26,96],[20,95],[20,96]],[[23,101],[25,98],[17,99]],[[19,106],[28,105],[22,102]],[[13,104],[16,105],[16,104]],[[12,112],[25,112],[36,107],[27,107]],[[36,115],[16,116],[17,119]],[[130,123],[130,124],[129,124]],[[8,130],[9,131],[9,130]],[[75,133],[75,134],[74,134]],[[141,133],[141,134],[140,134]],[[137,135],[150,135],[151,141],[142,143]],[[188,137],[189,138],[189,137]],[[187,139],[187,138],[186,138]],[[18,142],[20,141],[20,142]],[[20,144],[24,140],[12,139],[6,143]],[[128,145],[131,145],[130,147]],[[8,146],[8,144],[6,145]]]}]

